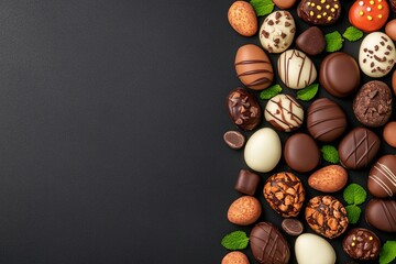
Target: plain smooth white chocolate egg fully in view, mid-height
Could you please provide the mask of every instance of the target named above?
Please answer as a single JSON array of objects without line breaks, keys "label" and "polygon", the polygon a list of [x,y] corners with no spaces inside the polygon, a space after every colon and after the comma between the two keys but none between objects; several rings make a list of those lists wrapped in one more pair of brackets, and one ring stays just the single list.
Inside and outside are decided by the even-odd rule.
[{"label": "plain smooth white chocolate egg fully in view, mid-height", "polygon": [[272,170],[279,162],[282,144],[278,134],[268,128],[257,130],[248,140],[244,160],[248,166],[260,173]]}]

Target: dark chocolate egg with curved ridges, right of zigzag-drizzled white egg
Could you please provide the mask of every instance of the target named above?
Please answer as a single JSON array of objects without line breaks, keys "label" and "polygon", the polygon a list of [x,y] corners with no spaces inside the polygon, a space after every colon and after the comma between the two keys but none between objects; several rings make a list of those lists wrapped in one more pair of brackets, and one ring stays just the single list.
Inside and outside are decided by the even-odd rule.
[{"label": "dark chocolate egg with curved ridges, right of zigzag-drizzled white egg", "polygon": [[345,131],[346,125],[343,110],[328,98],[317,99],[308,108],[307,128],[316,140],[331,142]]}]

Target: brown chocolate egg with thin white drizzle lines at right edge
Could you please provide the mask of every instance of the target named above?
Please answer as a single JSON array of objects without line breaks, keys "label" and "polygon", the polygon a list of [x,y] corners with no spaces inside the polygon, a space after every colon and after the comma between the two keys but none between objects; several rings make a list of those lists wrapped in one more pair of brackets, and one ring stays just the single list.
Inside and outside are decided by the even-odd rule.
[{"label": "brown chocolate egg with thin white drizzle lines at right edge", "polygon": [[367,188],[377,198],[396,195],[396,156],[382,156],[371,168]]}]

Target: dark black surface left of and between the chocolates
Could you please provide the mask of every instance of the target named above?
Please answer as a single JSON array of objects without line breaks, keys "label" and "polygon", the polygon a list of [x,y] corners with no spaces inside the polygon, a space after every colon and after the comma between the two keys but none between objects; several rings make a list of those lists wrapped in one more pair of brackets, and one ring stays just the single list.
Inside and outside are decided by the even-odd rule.
[{"label": "dark black surface left of and between the chocolates", "polygon": [[[260,42],[230,28],[231,3],[1,1],[0,263],[220,263],[221,238],[249,233],[227,220],[246,166],[222,134],[234,129],[224,99],[241,86],[235,52]],[[298,22],[297,34],[307,28]],[[356,58],[359,44],[343,51]],[[351,98],[336,100],[358,125]],[[383,143],[384,153],[395,150]],[[350,182],[365,186],[366,174]],[[262,186],[261,220],[279,226]]]}]

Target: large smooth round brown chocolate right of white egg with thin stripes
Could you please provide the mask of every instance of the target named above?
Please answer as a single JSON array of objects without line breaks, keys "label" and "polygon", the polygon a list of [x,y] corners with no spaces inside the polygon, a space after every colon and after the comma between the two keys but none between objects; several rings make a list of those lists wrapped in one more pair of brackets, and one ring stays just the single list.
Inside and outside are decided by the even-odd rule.
[{"label": "large smooth round brown chocolate right of white egg with thin stripes", "polygon": [[353,94],[360,79],[359,65],[346,53],[331,53],[320,65],[319,81],[334,97],[342,98]]}]

